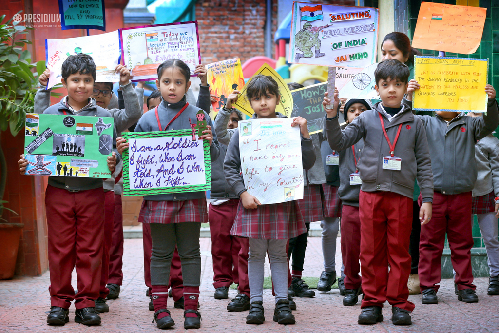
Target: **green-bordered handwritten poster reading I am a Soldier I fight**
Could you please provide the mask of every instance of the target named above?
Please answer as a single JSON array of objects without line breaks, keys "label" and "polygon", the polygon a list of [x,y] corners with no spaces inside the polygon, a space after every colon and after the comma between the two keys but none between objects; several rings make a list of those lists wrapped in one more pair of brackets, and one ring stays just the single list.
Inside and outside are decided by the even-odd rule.
[{"label": "green-bordered handwritten poster reading I am a Soldier I fight", "polygon": [[211,189],[210,145],[189,129],[123,133],[123,194],[152,195]]}]

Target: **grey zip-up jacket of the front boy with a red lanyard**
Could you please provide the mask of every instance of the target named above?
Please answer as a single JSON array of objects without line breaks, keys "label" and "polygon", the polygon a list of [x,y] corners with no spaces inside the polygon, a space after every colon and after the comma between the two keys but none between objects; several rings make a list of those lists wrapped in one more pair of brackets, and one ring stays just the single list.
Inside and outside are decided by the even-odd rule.
[{"label": "grey zip-up jacket of the front boy with a red lanyard", "polygon": [[[402,104],[404,109],[388,121],[380,103],[374,104],[372,110],[362,112],[343,131],[340,129],[337,116],[327,118],[326,115],[325,129],[329,145],[332,149],[344,150],[360,139],[364,140],[362,156],[357,162],[362,191],[389,191],[412,199],[414,180],[417,178],[423,202],[432,202],[433,174],[423,123],[405,104]],[[380,114],[392,143],[399,124],[402,124],[394,153],[402,159],[400,171],[383,169],[383,157],[390,155],[390,147],[383,134]]]}]

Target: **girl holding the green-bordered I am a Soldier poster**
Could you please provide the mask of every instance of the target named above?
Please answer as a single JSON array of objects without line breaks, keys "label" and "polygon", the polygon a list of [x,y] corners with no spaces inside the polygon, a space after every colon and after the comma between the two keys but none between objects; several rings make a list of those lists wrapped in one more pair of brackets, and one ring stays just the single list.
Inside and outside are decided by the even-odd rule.
[{"label": "girl holding the green-bordered I am a Soldier poster", "polygon": [[[189,66],[179,59],[170,59],[158,67],[156,85],[163,101],[155,112],[146,112],[139,120],[135,132],[168,129],[190,129],[190,120],[196,119],[199,108],[186,102],[185,94],[191,85]],[[217,136],[212,134],[212,121],[208,114],[207,129],[201,139],[210,143],[212,162],[219,156]],[[161,125],[163,124],[163,125]],[[165,126],[166,127],[163,127]],[[118,138],[119,150],[128,143]],[[178,192],[147,195],[139,220],[149,223],[152,238],[151,285],[154,319],[158,328],[172,327],[175,322],[167,310],[170,264],[177,246],[184,281],[184,328],[200,328],[201,314],[197,311],[201,279],[201,252],[199,233],[201,223],[208,222],[205,192]]]}]

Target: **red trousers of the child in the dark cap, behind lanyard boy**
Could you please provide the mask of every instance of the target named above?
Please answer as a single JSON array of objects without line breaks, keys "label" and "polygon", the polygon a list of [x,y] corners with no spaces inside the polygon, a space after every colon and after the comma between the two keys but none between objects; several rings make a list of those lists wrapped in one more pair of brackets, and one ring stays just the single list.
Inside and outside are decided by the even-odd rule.
[{"label": "red trousers of the child in the dark cap, behind lanyard boy", "polygon": [[343,259],[346,289],[361,285],[360,273],[360,217],[359,207],[343,203],[341,208],[341,257]]}]

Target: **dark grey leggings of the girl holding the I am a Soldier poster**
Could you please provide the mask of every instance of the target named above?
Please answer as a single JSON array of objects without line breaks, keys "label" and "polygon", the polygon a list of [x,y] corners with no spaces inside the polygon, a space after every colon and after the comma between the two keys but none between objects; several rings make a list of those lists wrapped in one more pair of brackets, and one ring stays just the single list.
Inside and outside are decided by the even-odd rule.
[{"label": "dark grey leggings of the girl holding the I am a Soldier poster", "polygon": [[182,263],[184,286],[199,287],[201,285],[201,252],[199,250],[201,223],[151,223],[150,226],[153,241],[151,285],[168,286],[173,252],[177,246]]}]

